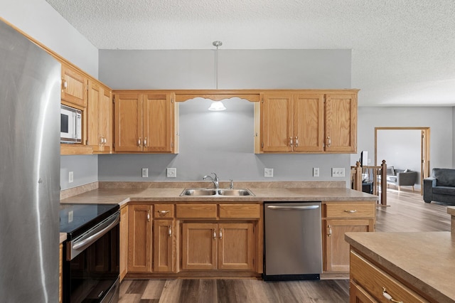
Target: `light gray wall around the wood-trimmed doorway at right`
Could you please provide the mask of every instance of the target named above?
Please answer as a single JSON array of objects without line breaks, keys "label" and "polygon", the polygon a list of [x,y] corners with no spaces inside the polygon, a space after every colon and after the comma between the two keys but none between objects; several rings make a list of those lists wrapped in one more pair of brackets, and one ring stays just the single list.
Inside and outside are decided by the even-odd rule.
[{"label": "light gray wall around the wood-trimmed doorway at right", "polygon": [[359,107],[358,154],[352,154],[350,161],[354,164],[360,151],[367,150],[374,164],[375,127],[429,127],[430,166],[451,168],[454,163],[452,123],[451,107]]}]

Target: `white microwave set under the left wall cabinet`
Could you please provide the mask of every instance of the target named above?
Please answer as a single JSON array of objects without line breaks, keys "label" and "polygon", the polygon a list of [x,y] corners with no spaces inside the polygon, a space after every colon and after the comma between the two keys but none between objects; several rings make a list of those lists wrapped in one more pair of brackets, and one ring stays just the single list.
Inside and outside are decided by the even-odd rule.
[{"label": "white microwave set under the left wall cabinet", "polygon": [[76,108],[60,105],[60,142],[82,142],[82,112]]}]

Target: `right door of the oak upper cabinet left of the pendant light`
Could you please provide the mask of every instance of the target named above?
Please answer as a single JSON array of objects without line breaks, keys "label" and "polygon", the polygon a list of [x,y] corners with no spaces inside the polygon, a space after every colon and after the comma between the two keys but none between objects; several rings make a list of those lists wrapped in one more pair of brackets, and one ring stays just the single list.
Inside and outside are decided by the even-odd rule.
[{"label": "right door of the oak upper cabinet left of the pendant light", "polygon": [[172,152],[173,100],[171,94],[146,94],[142,105],[144,151]]}]

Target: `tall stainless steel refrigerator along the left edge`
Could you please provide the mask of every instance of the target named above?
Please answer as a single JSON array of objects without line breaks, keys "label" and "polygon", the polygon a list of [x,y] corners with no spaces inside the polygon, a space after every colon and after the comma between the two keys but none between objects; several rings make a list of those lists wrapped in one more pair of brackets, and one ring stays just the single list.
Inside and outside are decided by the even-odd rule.
[{"label": "tall stainless steel refrigerator along the left edge", "polygon": [[0,20],[0,302],[58,302],[60,68]]}]

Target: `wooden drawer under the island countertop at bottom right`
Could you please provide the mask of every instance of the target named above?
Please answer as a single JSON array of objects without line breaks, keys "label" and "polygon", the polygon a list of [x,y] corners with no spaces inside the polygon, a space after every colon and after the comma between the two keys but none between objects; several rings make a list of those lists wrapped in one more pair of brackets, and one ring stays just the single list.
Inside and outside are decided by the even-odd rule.
[{"label": "wooden drawer under the island countertop at bottom right", "polygon": [[389,301],[385,295],[390,295],[392,299],[398,302],[428,302],[400,281],[388,275],[387,272],[353,251],[350,252],[350,279],[379,302]]}]

